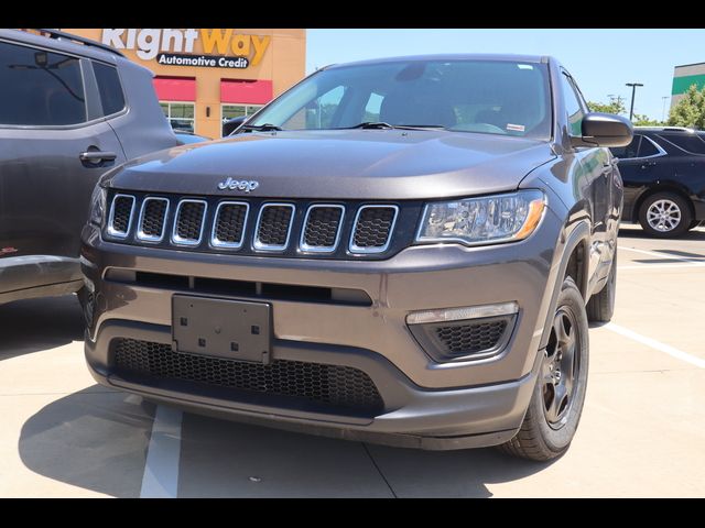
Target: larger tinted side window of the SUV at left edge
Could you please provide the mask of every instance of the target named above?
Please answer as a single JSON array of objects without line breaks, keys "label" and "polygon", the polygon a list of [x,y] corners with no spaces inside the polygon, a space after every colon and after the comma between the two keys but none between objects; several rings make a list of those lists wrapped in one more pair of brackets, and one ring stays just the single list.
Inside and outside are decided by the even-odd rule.
[{"label": "larger tinted side window of the SUV at left edge", "polygon": [[86,121],[77,58],[0,42],[0,124],[58,125]]}]

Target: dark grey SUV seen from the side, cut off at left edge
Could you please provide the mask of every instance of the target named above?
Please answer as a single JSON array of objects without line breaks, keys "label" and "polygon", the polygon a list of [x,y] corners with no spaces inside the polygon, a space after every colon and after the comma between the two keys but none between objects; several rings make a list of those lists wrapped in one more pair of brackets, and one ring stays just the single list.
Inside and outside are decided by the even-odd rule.
[{"label": "dark grey SUV seen from the side, cut off at left edge", "polygon": [[0,30],[0,304],[83,286],[80,230],[100,175],[178,144],[148,69],[43,33]]}]

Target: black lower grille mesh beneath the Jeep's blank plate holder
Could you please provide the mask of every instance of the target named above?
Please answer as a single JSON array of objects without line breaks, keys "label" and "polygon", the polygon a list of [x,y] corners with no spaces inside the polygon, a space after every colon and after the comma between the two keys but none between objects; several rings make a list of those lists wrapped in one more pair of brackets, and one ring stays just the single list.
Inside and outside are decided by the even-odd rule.
[{"label": "black lower grille mesh beneath the Jeep's blank plate holder", "polygon": [[369,414],[383,408],[375,383],[351,366],[289,360],[245,363],[174,352],[167,344],[134,339],[117,341],[113,363],[120,373],[291,396]]}]

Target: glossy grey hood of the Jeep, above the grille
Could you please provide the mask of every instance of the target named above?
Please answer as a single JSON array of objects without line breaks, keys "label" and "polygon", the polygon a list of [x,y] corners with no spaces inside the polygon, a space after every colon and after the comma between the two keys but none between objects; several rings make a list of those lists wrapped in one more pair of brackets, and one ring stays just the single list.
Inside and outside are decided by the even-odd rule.
[{"label": "glossy grey hood of the Jeep, above the grille", "polygon": [[254,197],[423,199],[512,190],[554,157],[545,142],[467,132],[260,132],[140,157],[106,175],[106,185],[248,196],[218,189],[232,178],[257,182]]}]

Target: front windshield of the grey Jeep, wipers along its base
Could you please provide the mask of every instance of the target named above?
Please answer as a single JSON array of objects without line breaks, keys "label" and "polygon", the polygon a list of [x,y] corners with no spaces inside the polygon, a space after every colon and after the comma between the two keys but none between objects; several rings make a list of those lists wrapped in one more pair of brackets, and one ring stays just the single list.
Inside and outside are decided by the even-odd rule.
[{"label": "front windshield of the grey Jeep, wipers along its base", "polygon": [[547,140],[547,68],[545,64],[470,59],[332,67],[304,79],[260,111],[247,128],[329,130],[365,124]]}]

